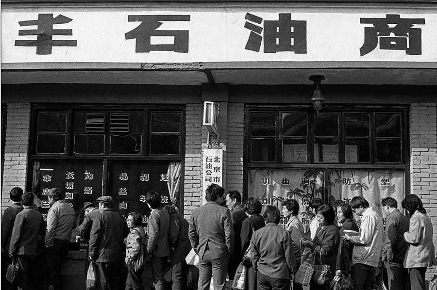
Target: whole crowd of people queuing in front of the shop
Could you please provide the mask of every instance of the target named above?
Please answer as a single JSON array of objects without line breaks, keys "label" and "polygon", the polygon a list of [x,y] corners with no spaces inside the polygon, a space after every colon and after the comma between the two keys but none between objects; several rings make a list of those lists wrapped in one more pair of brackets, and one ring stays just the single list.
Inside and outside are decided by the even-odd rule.
[{"label": "whole crowd of people queuing in front of the shop", "polygon": [[[47,196],[51,207],[46,223],[34,209],[33,193],[20,188],[10,193],[13,204],[5,210],[1,225],[2,277],[4,266],[13,262],[19,265],[19,274],[9,289],[31,289],[29,273],[39,255],[38,236],[44,237],[50,287],[63,289],[61,264],[77,220],[64,193],[54,188]],[[259,200],[251,197],[242,202],[238,191],[225,193],[217,184],[207,187],[205,199],[188,222],[175,207],[162,207],[159,193],[148,192],[145,200],[151,214],[146,229],[141,214],[131,212],[124,218],[117,212],[111,196],[86,205],[79,226],[89,242],[84,270],[90,263],[95,265],[97,289],[119,289],[126,267],[125,289],[143,290],[142,274],[149,257],[155,290],[166,288],[167,266],[172,290],[185,290],[185,257],[192,249],[199,257],[200,290],[209,290],[211,279],[214,289],[225,289],[227,278],[233,280],[241,267],[246,273],[244,290],[302,290],[294,278],[306,262],[329,269],[322,283],[310,283],[310,290],[371,290],[382,269],[387,271],[388,290],[424,290],[426,269],[437,265],[433,226],[415,194],[402,201],[408,217],[395,199],[382,199],[385,229],[382,217],[362,196],[336,208],[314,198],[309,203],[314,218],[306,232],[294,199],[283,202],[282,215],[273,206],[262,213]]]}]

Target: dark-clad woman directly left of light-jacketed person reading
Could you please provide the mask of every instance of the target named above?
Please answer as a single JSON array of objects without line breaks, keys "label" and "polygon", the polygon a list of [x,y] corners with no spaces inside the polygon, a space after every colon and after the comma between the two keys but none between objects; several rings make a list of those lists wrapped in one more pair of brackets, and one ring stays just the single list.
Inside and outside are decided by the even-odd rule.
[{"label": "dark-clad woman directly left of light-jacketed person reading", "polygon": [[[344,236],[344,230],[354,230],[358,232],[360,229],[353,221],[353,212],[349,204],[343,203],[337,208],[337,219],[341,223],[340,237]],[[352,251],[353,243],[340,238],[340,247],[337,254],[336,274],[348,275],[352,270]]]}]

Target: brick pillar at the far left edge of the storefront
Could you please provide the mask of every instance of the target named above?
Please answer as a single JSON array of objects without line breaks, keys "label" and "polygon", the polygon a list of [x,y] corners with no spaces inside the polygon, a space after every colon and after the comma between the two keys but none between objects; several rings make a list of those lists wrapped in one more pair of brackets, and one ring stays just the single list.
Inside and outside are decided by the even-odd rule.
[{"label": "brick pillar at the far left edge of the storefront", "polygon": [[29,147],[30,104],[7,103],[6,144],[4,149],[1,212],[9,206],[9,192],[26,187]]}]

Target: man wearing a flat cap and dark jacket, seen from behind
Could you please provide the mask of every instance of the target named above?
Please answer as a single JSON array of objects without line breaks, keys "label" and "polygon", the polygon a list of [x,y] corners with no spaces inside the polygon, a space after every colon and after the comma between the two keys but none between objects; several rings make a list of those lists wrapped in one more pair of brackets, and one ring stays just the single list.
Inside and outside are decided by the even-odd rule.
[{"label": "man wearing a flat cap and dark jacket, seen from behind", "polygon": [[96,262],[101,288],[117,290],[124,266],[123,239],[129,228],[126,219],[113,209],[111,196],[101,196],[96,202],[100,216],[91,227],[89,259]]}]

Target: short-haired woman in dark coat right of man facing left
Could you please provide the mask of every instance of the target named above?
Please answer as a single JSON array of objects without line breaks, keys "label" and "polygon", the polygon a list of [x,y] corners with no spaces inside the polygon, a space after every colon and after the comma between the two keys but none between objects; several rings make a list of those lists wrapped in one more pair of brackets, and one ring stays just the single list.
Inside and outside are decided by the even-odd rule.
[{"label": "short-haired woman in dark coat right of man facing left", "polygon": [[[248,216],[248,218],[243,221],[240,234],[241,248],[244,255],[251,243],[253,232],[266,226],[266,223],[264,222],[264,218],[260,215],[262,205],[259,200],[253,197],[246,199],[243,202],[243,209]],[[252,265],[246,268],[247,274],[244,290],[256,290],[256,272],[253,271]]]}]

